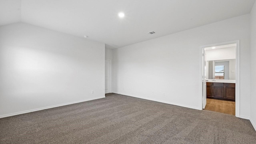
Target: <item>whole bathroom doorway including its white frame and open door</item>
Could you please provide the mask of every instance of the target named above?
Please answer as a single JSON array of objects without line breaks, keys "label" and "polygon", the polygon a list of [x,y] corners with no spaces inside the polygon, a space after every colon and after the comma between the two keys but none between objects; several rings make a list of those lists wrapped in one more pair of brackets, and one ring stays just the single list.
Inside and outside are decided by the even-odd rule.
[{"label": "whole bathroom doorway including its white frame and open door", "polygon": [[239,40],[200,46],[202,109],[240,115]]}]

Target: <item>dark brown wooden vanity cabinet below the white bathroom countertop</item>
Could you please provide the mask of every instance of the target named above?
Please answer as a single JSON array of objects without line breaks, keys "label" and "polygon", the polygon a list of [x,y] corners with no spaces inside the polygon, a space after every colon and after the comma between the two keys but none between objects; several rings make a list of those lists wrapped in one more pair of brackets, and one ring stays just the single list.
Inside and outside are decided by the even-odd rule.
[{"label": "dark brown wooden vanity cabinet below the white bathroom countertop", "polygon": [[206,94],[207,98],[235,101],[236,84],[206,82]]}]

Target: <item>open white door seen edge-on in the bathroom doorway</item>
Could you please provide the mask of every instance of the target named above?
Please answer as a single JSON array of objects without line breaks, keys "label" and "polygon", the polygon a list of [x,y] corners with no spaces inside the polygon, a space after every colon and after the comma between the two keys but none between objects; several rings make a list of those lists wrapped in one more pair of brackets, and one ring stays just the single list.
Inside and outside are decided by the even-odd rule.
[{"label": "open white door seen edge-on in the bathroom doorway", "polygon": [[206,53],[203,49],[203,54],[202,54],[202,59],[203,59],[203,109],[206,106],[206,74],[207,74],[207,66],[206,66]]}]

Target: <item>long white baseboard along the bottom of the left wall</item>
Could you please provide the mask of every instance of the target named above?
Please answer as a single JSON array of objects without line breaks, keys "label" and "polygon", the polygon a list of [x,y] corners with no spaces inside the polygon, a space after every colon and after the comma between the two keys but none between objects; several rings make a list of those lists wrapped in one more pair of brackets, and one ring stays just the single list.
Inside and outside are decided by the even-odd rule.
[{"label": "long white baseboard along the bottom of the left wall", "polygon": [[39,110],[45,110],[45,109],[49,109],[49,108],[56,108],[56,107],[59,107],[59,106],[66,106],[66,105],[76,104],[76,103],[80,103],[80,102],[86,102],[86,101],[90,101],[90,100],[96,100],[96,99],[99,99],[99,98],[105,98],[105,96],[101,96],[101,97],[98,97],[98,98],[90,98],[90,99],[87,99],[87,100],[79,100],[79,101],[76,101],[76,102],[68,102],[68,103],[65,103],[65,104],[57,104],[57,105],[54,105],[54,106],[47,106],[47,107],[44,107],[44,108],[36,108],[36,109],[33,109],[33,110],[26,110],[26,111],[22,111],[22,112],[15,112],[15,113],[12,113],[12,114],[5,114],[5,115],[0,116],[0,118],[5,118],[5,117],[8,117],[8,116],[15,116],[15,115],[19,115],[19,114],[26,114],[26,113],[29,113],[29,112],[36,112],[36,111],[39,111]]}]

